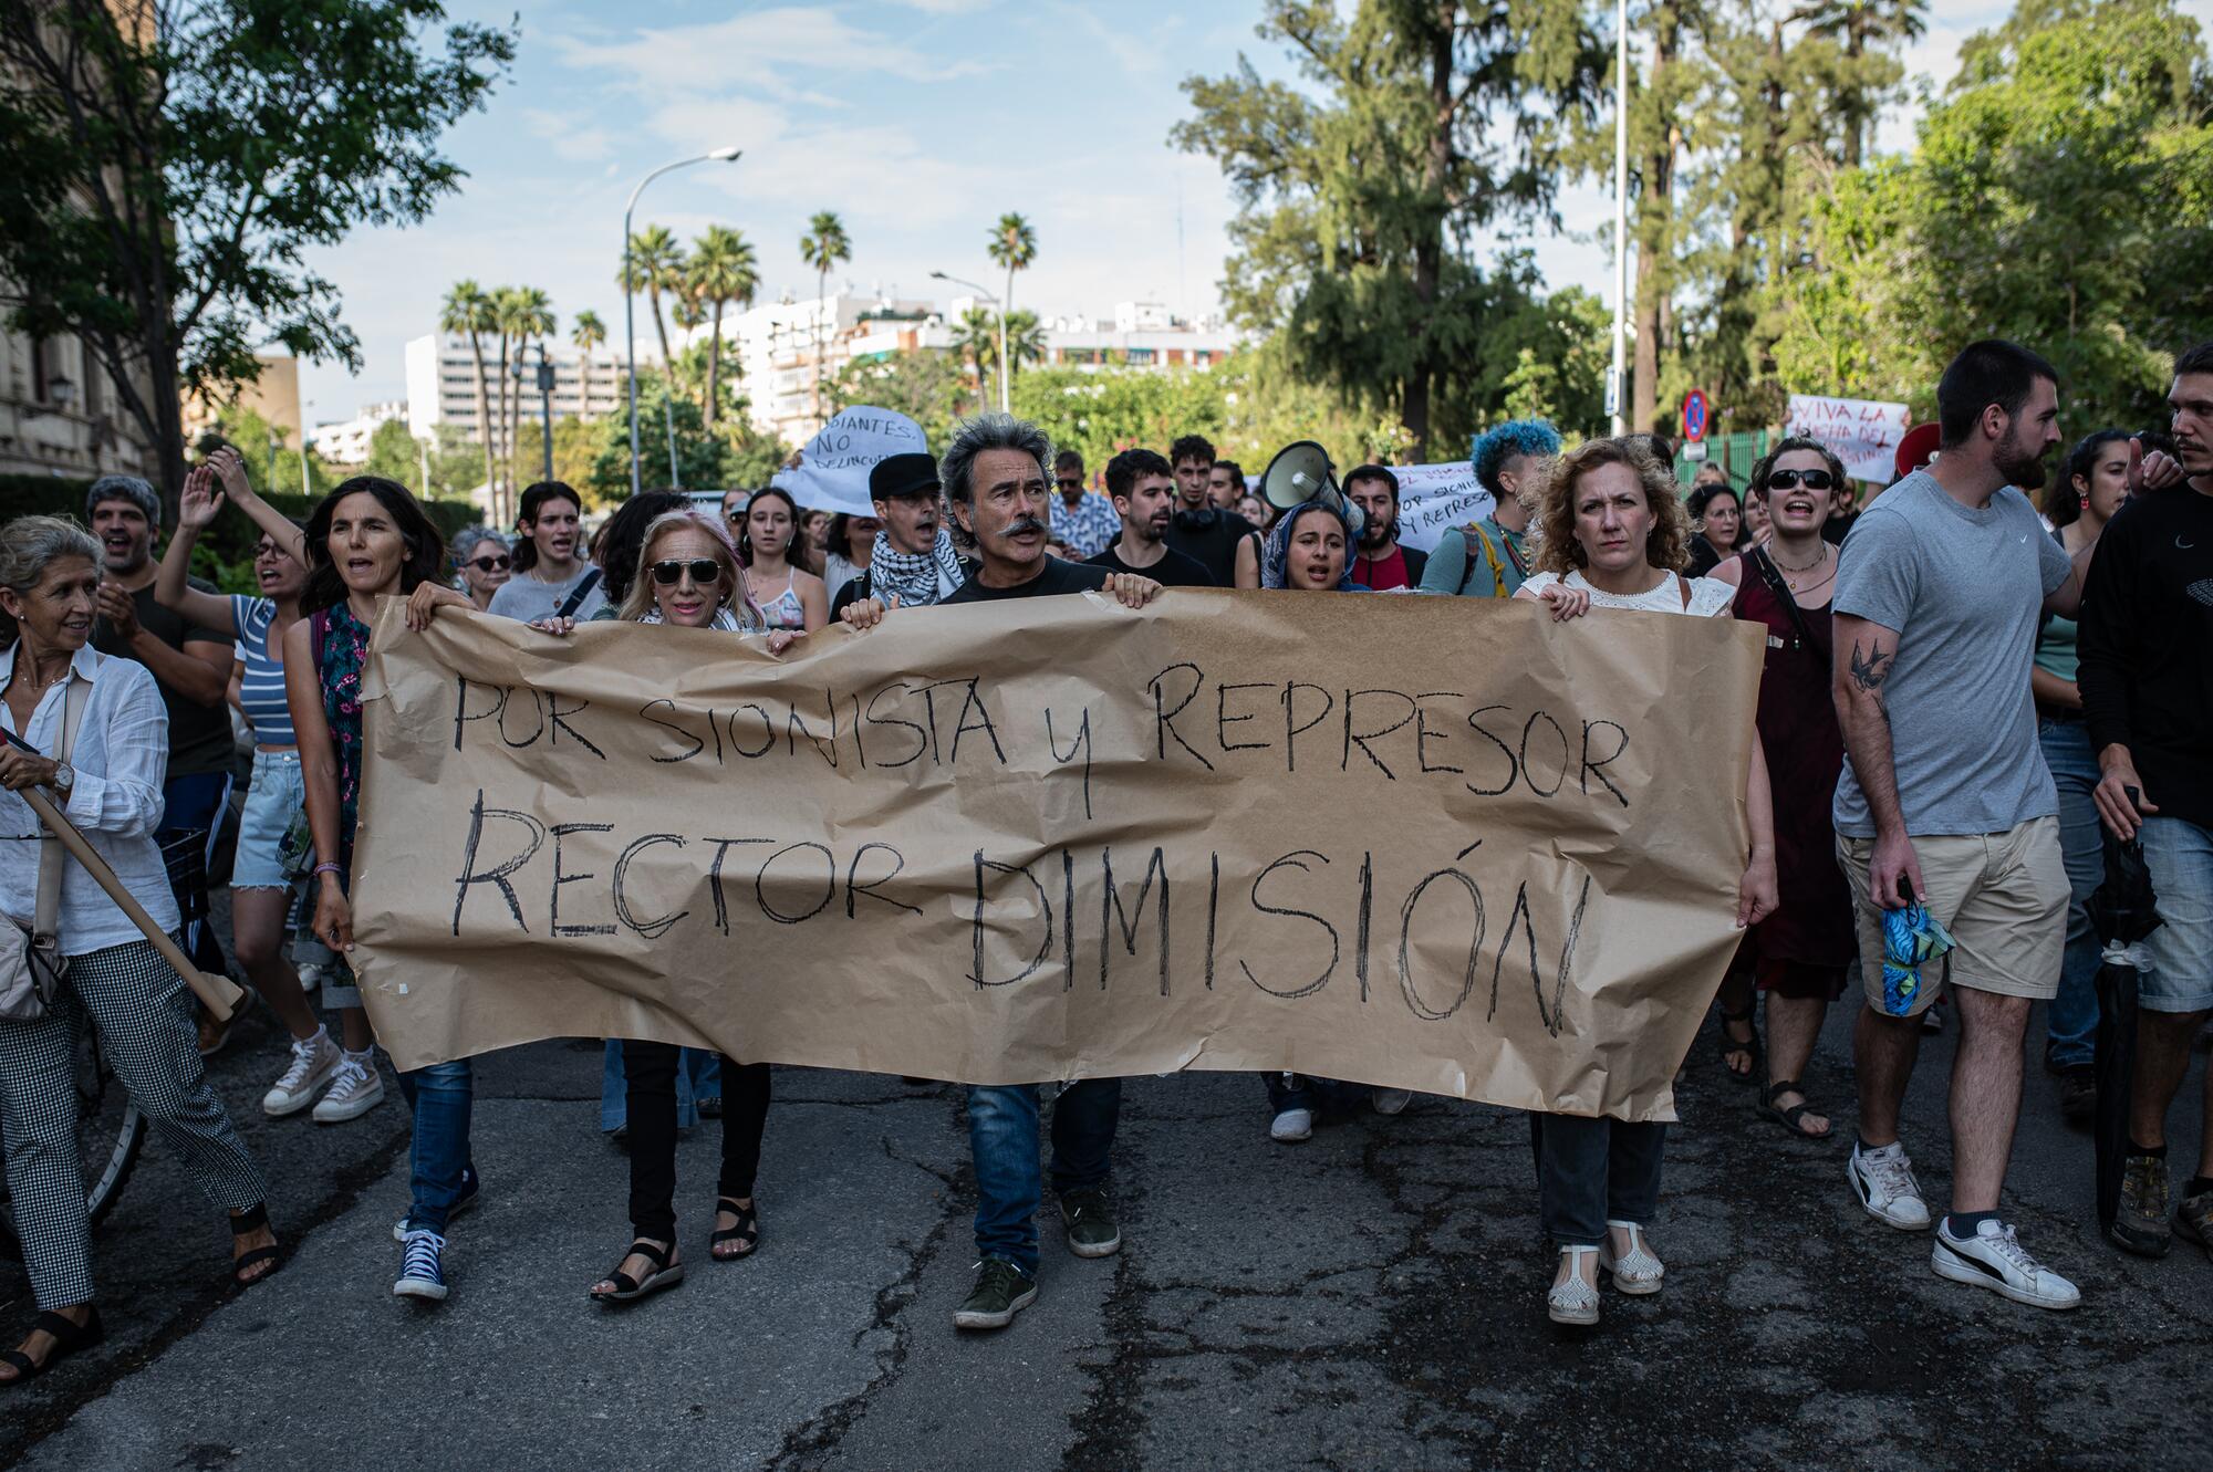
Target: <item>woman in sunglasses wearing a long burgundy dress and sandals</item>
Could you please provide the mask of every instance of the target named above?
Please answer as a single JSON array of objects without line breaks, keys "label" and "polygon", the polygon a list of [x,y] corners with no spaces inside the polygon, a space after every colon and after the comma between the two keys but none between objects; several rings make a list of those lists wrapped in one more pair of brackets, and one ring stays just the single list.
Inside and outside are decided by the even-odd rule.
[{"label": "woman in sunglasses wearing a long burgundy dress and sandals", "polygon": [[1759,992],[1768,995],[1762,1118],[1824,1140],[1830,1121],[1804,1087],[1828,1003],[1852,966],[1852,893],[1837,869],[1830,800],[1843,771],[1843,729],[1830,701],[1830,614],[1837,548],[1821,526],[1846,488],[1843,462],[1815,440],[1784,440],[1753,466],[1750,502],[1766,506],[1770,539],[1713,570],[1737,590],[1739,619],[1764,623],[1759,745],[1775,809],[1781,908],[1755,924],[1722,981],[1722,1063],[1750,1081],[1759,1068]]}]

